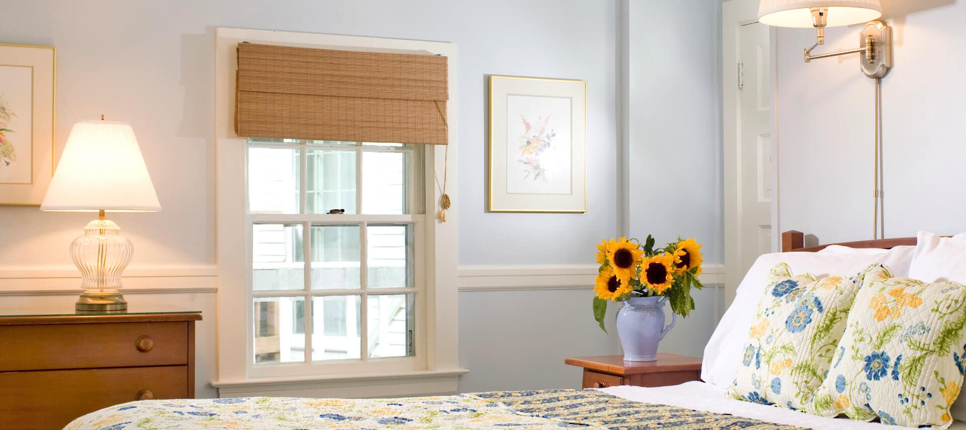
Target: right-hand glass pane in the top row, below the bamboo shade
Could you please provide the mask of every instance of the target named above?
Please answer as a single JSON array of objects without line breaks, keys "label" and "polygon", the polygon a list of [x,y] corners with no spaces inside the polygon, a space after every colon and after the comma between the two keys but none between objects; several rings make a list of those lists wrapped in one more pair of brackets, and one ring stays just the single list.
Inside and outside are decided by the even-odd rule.
[{"label": "right-hand glass pane in the top row, below the bamboo shade", "polygon": [[409,153],[362,153],[362,212],[406,214]]}]

